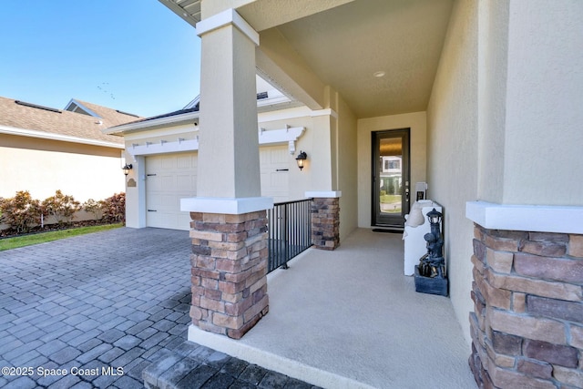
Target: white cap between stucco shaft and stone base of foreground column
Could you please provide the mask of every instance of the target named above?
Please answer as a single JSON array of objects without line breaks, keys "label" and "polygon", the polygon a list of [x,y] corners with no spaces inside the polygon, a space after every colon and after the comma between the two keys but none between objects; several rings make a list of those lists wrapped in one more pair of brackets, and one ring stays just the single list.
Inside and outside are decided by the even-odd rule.
[{"label": "white cap between stucco shaft and stone base of foreground column", "polygon": [[188,212],[222,213],[227,215],[242,215],[258,210],[271,210],[271,197],[247,198],[209,198],[193,197],[180,199],[180,210]]}]

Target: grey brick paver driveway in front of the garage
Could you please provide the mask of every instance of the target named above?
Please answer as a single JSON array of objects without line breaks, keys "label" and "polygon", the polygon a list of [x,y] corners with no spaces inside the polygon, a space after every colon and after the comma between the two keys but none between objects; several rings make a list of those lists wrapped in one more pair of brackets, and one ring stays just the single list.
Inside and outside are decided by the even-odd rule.
[{"label": "grey brick paver driveway in front of the garage", "polygon": [[188,236],[122,228],[0,252],[0,387],[143,387],[186,340]]}]

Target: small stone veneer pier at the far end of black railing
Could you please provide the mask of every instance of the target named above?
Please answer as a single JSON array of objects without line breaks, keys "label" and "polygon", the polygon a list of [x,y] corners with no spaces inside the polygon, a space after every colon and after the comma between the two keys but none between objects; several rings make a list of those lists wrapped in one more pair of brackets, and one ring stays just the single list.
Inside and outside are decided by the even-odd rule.
[{"label": "small stone veneer pier at the far end of black railing", "polygon": [[312,243],[322,250],[340,246],[340,199],[312,199]]}]

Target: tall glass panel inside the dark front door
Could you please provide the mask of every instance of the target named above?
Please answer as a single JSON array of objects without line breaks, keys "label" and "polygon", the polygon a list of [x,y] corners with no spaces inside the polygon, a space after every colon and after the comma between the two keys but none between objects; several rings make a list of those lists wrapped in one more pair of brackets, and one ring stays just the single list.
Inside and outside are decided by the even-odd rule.
[{"label": "tall glass panel inside the dark front door", "polygon": [[403,209],[403,141],[383,138],[379,142],[379,210],[401,214]]}]

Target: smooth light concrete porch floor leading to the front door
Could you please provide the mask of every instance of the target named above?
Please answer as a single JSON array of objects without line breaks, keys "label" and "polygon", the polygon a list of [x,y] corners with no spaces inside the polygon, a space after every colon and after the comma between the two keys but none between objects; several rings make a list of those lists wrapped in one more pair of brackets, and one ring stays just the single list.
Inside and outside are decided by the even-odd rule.
[{"label": "smooth light concrete porch floor leading to the front door", "polygon": [[403,258],[400,234],[355,230],[273,271],[270,312],[240,341],[192,325],[189,340],[322,387],[476,387],[450,300],[414,292]]}]

